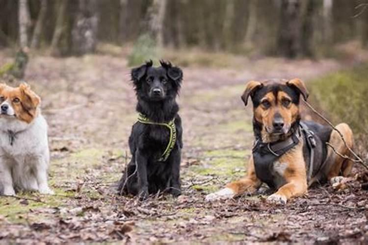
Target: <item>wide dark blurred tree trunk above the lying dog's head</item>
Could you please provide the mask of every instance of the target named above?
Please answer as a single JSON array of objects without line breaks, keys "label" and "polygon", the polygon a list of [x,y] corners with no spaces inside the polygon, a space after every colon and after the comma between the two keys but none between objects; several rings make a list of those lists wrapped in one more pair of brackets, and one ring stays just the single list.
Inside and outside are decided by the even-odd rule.
[{"label": "wide dark blurred tree trunk above the lying dog's head", "polygon": [[282,0],[278,37],[279,54],[295,58],[300,52],[300,1]]}]

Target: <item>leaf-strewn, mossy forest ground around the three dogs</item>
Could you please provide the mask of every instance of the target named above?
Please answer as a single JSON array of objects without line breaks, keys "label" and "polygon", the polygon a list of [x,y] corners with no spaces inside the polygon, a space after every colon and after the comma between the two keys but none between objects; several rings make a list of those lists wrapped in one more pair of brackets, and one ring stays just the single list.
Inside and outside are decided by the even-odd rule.
[{"label": "leaf-strewn, mossy forest ground around the three dogs", "polygon": [[[1,62],[8,59],[0,53]],[[241,62],[237,69],[183,68],[183,195],[139,201],[116,196],[112,188],[129,161],[128,137],[137,116],[126,59],[32,57],[26,80],[43,99],[55,195],[1,197],[0,244],[367,243],[367,192],[355,182],[340,192],[316,187],[285,206],[268,204],[262,195],[204,201],[245,173],[253,142],[252,111],[240,100],[247,80],[308,80],[347,65],[278,58]]]}]

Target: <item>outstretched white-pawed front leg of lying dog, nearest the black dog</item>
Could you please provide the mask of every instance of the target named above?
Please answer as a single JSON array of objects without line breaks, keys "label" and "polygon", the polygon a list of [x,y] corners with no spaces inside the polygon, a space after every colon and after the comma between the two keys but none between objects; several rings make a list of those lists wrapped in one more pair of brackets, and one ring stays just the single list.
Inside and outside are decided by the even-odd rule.
[{"label": "outstretched white-pawed front leg of lying dog, nearest the black dog", "polygon": [[207,195],[206,200],[211,201],[218,199],[228,199],[243,194],[245,192],[253,193],[261,184],[261,181],[256,176],[253,157],[251,157],[248,163],[247,176],[240,180],[227,184],[226,188],[218,192]]}]

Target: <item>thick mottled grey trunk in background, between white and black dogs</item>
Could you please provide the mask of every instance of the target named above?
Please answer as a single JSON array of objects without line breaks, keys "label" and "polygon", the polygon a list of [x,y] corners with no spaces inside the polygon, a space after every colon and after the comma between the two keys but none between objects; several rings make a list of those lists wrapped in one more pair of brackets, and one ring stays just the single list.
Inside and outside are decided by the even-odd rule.
[{"label": "thick mottled grey trunk in background, between white and black dogs", "polygon": [[75,54],[82,55],[95,51],[98,23],[97,0],[79,0],[72,30],[72,50]]}]

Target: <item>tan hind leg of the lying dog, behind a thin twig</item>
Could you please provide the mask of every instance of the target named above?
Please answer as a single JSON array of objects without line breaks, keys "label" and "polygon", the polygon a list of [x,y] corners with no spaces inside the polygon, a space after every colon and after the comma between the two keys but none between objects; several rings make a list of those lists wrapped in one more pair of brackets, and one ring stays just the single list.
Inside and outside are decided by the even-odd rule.
[{"label": "tan hind leg of the lying dog, behind a thin twig", "polygon": [[[346,123],[340,123],[336,128],[342,133],[346,145],[350,148],[354,146],[353,132]],[[351,156],[348,148],[343,143],[340,135],[335,130],[332,131],[329,143],[335,150],[342,155]],[[336,154],[331,147],[327,147],[327,159],[323,168],[324,174],[331,184],[341,182],[344,178],[350,175],[353,162],[347,159],[343,159],[341,156]],[[339,176],[341,175],[342,176]]]}]

